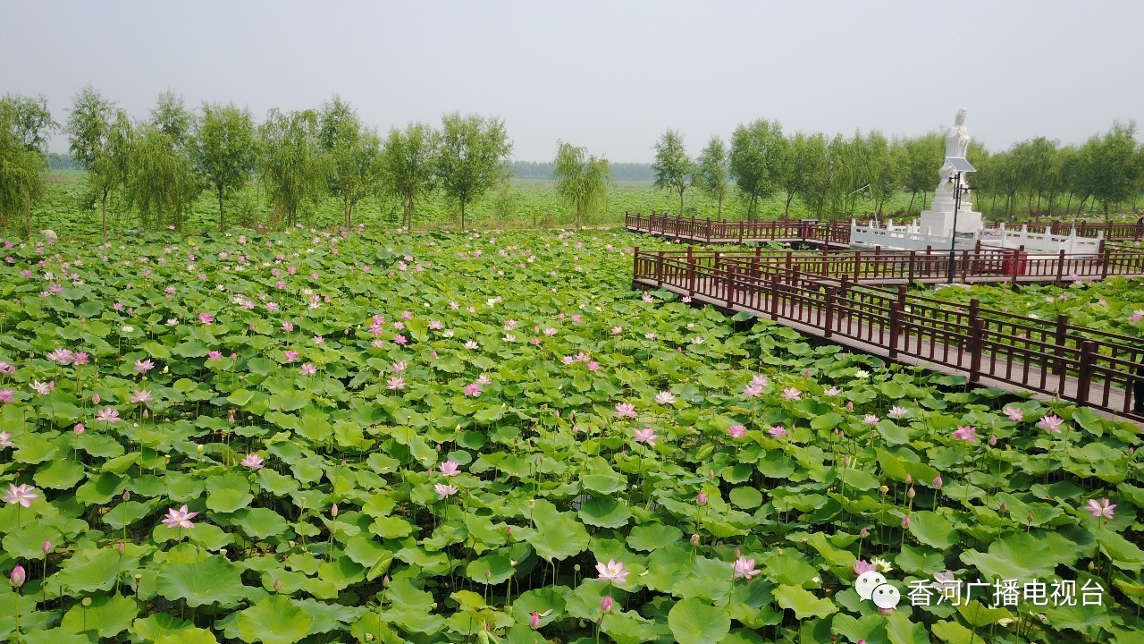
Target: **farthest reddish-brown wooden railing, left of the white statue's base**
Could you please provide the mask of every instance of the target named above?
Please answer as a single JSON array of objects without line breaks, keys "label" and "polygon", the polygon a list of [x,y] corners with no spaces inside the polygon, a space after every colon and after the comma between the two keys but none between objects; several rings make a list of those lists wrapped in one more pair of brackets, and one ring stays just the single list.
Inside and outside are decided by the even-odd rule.
[{"label": "farthest reddish-brown wooden railing, left of the white statue's base", "polygon": [[805,222],[776,221],[729,221],[718,219],[696,219],[678,215],[623,213],[623,225],[651,235],[678,237],[693,242],[757,242],[801,241],[848,244],[850,223],[842,221]]}]

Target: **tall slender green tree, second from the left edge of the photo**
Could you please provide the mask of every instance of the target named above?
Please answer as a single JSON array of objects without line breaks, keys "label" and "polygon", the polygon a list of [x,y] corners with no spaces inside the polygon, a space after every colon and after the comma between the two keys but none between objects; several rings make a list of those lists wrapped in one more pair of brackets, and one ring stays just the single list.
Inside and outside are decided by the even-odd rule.
[{"label": "tall slender green tree, second from the left edge of the photo", "polygon": [[108,234],[108,197],[127,179],[130,119],[117,110],[92,85],[85,86],[72,99],[67,117],[69,151],[72,160],[84,168],[85,207],[100,203],[103,234]]}]

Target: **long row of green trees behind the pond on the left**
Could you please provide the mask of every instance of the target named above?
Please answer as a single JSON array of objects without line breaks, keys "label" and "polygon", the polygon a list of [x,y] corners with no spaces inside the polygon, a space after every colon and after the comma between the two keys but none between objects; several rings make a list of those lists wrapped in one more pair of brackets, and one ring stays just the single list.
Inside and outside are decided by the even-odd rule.
[{"label": "long row of green trees behind the pond on the left", "polygon": [[[51,156],[53,132],[69,138],[69,155]],[[0,226],[33,230],[32,204],[42,195],[45,170],[85,172],[85,205],[98,207],[103,233],[108,201],[119,195],[145,228],[180,228],[191,204],[208,190],[227,229],[225,197],[257,180],[285,225],[327,196],[343,209],[343,226],[372,195],[399,197],[403,226],[415,203],[439,190],[466,210],[510,176],[513,143],[496,118],[448,113],[440,127],[412,123],[384,136],[334,96],[318,109],[271,109],[261,124],[232,103],[189,109],[175,92],[161,94],[145,119],[134,119],[90,85],[72,100],[65,123],[53,119],[43,97],[0,99]]]}]

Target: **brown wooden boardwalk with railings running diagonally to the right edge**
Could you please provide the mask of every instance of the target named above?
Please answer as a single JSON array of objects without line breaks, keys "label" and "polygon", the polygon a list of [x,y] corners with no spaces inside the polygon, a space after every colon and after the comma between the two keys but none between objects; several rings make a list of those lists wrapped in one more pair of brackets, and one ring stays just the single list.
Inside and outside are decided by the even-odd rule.
[{"label": "brown wooden boardwalk with railings running diagonally to the right edge", "polygon": [[[771,258],[773,259],[773,258]],[[963,371],[1134,418],[1144,382],[1139,338],[1039,320],[803,273],[753,253],[636,249],[634,283],[672,286],[728,309],[752,311]]]}]

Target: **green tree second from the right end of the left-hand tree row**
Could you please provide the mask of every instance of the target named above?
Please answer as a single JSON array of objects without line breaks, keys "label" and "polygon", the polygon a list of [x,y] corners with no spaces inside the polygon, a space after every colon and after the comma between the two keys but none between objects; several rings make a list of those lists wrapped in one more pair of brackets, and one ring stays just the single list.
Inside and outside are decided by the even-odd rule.
[{"label": "green tree second from the right end of the left-hand tree row", "polygon": [[437,178],[438,135],[423,123],[389,131],[381,150],[382,182],[402,197],[402,228],[413,227],[413,205],[434,188]]}]

